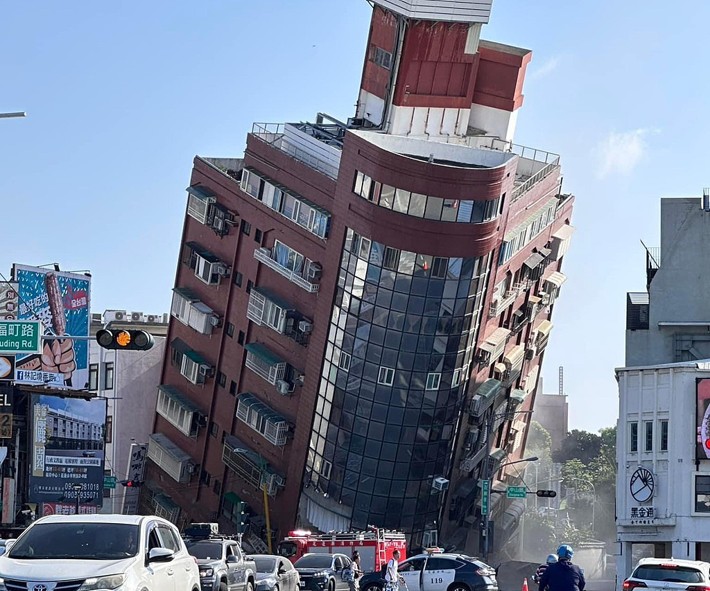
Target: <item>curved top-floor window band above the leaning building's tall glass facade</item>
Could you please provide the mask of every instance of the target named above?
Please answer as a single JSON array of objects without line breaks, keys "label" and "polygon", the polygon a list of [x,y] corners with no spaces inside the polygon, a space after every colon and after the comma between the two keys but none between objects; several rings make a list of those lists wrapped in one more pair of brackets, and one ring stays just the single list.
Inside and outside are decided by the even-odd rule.
[{"label": "curved top-floor window band above the leaning building's tall glass facade", "polygon": [[483,223],[496,219],[503,211],[506,194],[498,199],[473,201],[427,197],[406,189],[381,184],[363,172],[356,171],[353,192],[374,204],[415,218],[459,223]]}]

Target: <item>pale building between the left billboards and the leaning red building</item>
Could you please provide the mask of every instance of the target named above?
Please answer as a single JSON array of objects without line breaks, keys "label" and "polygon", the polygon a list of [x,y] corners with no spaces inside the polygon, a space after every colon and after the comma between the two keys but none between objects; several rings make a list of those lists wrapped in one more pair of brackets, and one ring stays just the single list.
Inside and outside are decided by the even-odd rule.
[{"label": "pale building between the left billboards and the leaning red building", "polygon": [[[168,314],[107,310],[92,314],[92,333],[99,328],[140,328],[153,335],[147,351],[109,350],[89,341],[89,390],[107,400],[107,476],[126,479],[131,443],[147,443],[153,432],[160,368],[165,352]],[[121,513],[126,489],[104,489],[101,513]]]}]

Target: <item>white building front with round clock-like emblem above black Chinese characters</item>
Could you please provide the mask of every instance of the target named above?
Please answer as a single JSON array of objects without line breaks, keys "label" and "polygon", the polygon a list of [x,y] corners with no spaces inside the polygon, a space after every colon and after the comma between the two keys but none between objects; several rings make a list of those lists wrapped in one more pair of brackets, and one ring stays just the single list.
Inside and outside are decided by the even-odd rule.
[{"label": "white building front with round clock-like emblem above black Chinese characters", "polygon": [[616,375],[619,580],[633,570],[633,544],[654,544],[657,558],[710,561],[710,459],[696,460],[697,384],[710,380],[710,361]]}]

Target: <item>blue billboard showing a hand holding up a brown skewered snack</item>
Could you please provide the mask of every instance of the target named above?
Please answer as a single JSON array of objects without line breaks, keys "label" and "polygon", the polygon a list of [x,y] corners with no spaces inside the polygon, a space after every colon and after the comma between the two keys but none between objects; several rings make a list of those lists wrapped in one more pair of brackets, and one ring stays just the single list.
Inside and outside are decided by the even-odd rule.
[{"label": "blue billboard showing a hand holding up a brown skewered snack", "polygon": [[[18,319],[39,320],[45,334],[88,336],[88,275],[13,265]],[[71,338],[43,341],[42,353],[18,355],[16,382],[81,390],[89,383],[89,343]]]}]

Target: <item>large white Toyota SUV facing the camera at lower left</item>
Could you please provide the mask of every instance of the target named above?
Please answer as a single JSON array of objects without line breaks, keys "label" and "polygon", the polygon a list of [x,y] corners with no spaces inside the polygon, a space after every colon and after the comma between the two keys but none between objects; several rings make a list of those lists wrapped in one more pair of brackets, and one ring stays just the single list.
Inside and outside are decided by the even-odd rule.
[{"label": "large white Toyota SUV facing the camera at lower left", "polygon": [[38,519],[0,556],[0,591],[200,591],[178,529],[143,515]]}]

